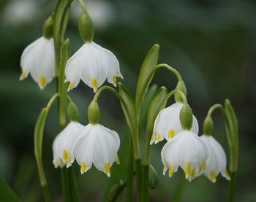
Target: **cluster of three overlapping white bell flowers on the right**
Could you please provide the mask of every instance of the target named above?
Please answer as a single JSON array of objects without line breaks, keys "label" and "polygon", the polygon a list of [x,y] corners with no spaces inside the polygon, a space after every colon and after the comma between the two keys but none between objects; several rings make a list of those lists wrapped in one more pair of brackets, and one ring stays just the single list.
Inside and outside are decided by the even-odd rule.
[{"label": "cluster of three overlapping white bell flowers on the right", "polygon": [[227,159],[222,146],[212,136],[198,136],[195,116],[192,117],[192,128],[184,130],[180,120],[182,106],[176,103],[162,109],[154,123],[151,144],[157,144],[164,138],[167,140],[161,152],[163,174],[169,170],[169,176],[173,176],[181,167],[189,182],[201,174],[205,174],[211,182],[216,182],[219,172],[229,180]]}]

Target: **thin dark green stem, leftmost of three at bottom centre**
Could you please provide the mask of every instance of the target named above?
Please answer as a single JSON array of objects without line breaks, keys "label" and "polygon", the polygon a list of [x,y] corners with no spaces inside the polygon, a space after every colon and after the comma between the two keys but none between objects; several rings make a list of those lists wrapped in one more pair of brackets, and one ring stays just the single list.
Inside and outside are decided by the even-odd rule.
[{"label": "thin dark green stem, leftmost of three at bottom centre", "polygon": [[133,147],[132,136],[129,136],[129,156],[128,156],[128,171],[127,171],[127,201],[132,201],[132,182],[133,182]]}]

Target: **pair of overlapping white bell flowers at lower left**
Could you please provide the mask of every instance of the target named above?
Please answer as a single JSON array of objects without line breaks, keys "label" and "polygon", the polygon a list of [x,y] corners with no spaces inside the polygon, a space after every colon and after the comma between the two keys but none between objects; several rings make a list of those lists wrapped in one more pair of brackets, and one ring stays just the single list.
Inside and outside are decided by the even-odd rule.
[{"label": "pair of overlapping white bell flowers at lower left", "polygon": [[110,176],[114,162],[119,163],[120,139],[116,131],[100,124],[84,126],[70,122],[53,141],[53,165],[55,168],[72,166],[74,160],[80,165],[80,173],[88,171],[92,164]]}]

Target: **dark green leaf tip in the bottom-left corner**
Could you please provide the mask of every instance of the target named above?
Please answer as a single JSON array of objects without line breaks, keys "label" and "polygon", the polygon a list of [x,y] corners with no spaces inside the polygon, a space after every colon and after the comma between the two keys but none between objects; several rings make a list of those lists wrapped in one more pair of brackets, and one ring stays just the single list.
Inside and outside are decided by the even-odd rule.
[{"label": "dark green leaf tip in the bottom-left corner", "polygon": [[19,202],[20,199],[8,186],[8,184],[0,177],[0,201],[3,202]]}]

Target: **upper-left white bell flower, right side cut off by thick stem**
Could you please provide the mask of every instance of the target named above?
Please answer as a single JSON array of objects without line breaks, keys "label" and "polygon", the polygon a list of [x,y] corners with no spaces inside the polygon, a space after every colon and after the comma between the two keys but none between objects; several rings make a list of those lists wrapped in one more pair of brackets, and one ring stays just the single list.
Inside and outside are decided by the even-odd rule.
[{"label": "upper-left white bell flower, right side cut off by thick stem", "polygon": [[20,80],[28,77],[29,73],[42,90],[55,77],[55,55],[53,38],[44,36],[29,44],[23,50],[20,58],[22,73]]}]

